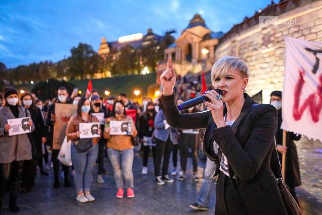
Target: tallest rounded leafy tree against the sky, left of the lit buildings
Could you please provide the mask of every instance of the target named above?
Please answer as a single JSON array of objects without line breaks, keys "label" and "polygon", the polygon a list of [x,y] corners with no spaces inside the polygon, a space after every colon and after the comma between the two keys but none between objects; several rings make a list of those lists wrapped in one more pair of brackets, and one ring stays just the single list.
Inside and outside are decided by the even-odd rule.
[{"label": "tallest rounded leafy tree against the sky, left of the lit buildings", "polygon": [[79,43],[77,47],[70,49],[69,73],[71,77],[79,77],[83,80],[86,75],[93,75],[100,68],[99,55],[92,46]]}]

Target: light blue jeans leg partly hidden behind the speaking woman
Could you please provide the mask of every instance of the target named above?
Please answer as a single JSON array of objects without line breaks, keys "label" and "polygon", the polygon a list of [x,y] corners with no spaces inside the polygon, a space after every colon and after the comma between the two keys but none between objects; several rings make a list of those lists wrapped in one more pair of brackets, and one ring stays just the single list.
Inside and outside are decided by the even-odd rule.
[{"label": "light blue jeans leg partly hidden behind the speaking woman", "polygon": [[213,175],[215,169],[215,163],[210,161],[209,158],[207,158],[204,178],[198,194],[198,204],[202,206],[207,206],[209,200],[209,191],[213,190],[212,186],[214,186],[215,180],[213,178],[210,178],[210,176]]}]

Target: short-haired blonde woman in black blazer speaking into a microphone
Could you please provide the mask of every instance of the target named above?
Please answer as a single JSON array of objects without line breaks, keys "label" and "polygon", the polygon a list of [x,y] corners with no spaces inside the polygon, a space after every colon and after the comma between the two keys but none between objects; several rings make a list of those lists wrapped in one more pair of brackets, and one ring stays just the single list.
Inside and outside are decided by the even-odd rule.
[{"label": "short-haired blonde woman in black blazer speaking into a microphone", "polygon": [[173,88],[176,74],[160,76],[160,104],[169,125],[179,129],[206,128],[203,150],[216,163],[215,214],[287,214],[270,160],[275,152],[277,113],[272,105],[255,105],[245,93],[250,71],[237,57],[224,56],[211,69],[215,91],[204,92],[210,110],[180,114]]}]

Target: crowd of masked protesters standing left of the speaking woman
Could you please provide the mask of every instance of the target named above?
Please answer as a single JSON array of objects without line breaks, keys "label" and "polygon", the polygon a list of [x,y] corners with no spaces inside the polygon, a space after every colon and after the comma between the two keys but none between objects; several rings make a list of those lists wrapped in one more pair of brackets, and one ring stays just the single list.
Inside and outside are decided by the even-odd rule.
[{"label": "crowd of masked protesters standing left of the speaking woman", "polygon": [[[190,82],[179,86],[195,89],[197,85]],[[188,92],[190,91],[188,90]],[[178,101],[182,102],[185,97],[190,99],[195,96],[196,92],[189,95],[178,92]],[[0,110],[12,112],[0,116],[2,118],[0,124],[1,146],[4,147],[3,142],[9,140],[15,142],[6,149],[10,152],[9,154],[0,153],[2,171],[7,171],[4,172],[4,175],[8,176],[1,179],[0,206],[3,204],[5,190],[7,186],[10,186],[10,208],[13,212],[20,210],[16,201],[19,191],[27,193],[36,189],[35,179],[38,169],[41,177],[48,177],[48,171],[53,170],[53,188],[60,188],[60,179],[62,178],[65,187],[71,187],[72,184],[75,187],[77,201],[83,203],[94,201],[93,195],[95,194],[92,195],[91,193],[93,169],[96,166],[98,168],[97,183],[104,184],[106,180],[104,175],[108,174],[104,167],[105,157],[108,157],[113,167],[116,184],[115,196],[123,198],[126,191],[126,196],[133,198],[135,196],[135,176],[133,176],[132,168],[135,153],[134,145],[136,145],[135,137],[137,137],[137,149],[142,157],[142,175],[154,172],[155,183],[158,185],[174,182],[174,179],[168,174],[169,163],[173,154],[174,170],[170,172],[171,175],[175,176],[178,172],[180,180],[185,180],[187,159],[191,157],[194,180],[199,181],[197,150],[202,134],[199,131],[189,134],[189,132],[169,127],[162,108],[155,99],[153,101],[151,98],[143,97],[141,102],[133,102],[127,98],[126,93],[120,93],[118,96],[111,95],[104,99],[96,89],[88,97],[75,93],[69,95],[65,87],[57,89],[55,98],[45,101],[38,99],[35,94],[30,92],[19,94],[13,87],[5,88],[4,94],[0,94],[0,98],[2,104]],[[69,118],[66,129],[63,131],[67,140],[71,140],[71,167],[60,163],[58,160],[62,142],[57,144],[57,141],[53,139],[55,126],[60,126],[55,123],[57,117],[56,104],[77,106],[76,114]],[[203,106],[202,108],[197,107],[188,110],[188,112],[202,110]],[[98,122],[95,113],[104,114],[105,120],[101,123],[99,129],[100,137],[92,138],[92,147],[89,150],[79,152],[76,148],[81,134],[79,123]],[[131,113],[130,116],[127,115],[128,113]],[[20,117],[31,117],[28,122],[32,127],[31,135],[18,134],[7,140],[5,136],[8,135],[10,129],[7,119]],[[132,132],[126,135],[110,134],[108,125],[113,120],[131,121]],[[30,137],[32,137],[32,140]],[[178,151],[180,152],[180,169],[177,169]],[[49,160],[50,157],[51,160]],[[152,157],[153,162],[153,170],[150,171],[147,167],[149,157]],[[6,168],[7,166],[9,168]],[[73,176],[73,183],[70,176]]]}]

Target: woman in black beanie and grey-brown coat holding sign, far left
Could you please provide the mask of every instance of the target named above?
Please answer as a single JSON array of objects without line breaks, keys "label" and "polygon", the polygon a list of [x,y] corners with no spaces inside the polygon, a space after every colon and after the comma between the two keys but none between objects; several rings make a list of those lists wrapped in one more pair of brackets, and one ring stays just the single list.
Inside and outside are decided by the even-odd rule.
[{"label": "woman in black beanie and grey-brown coat holding sign, far left", "polygon": [[9,208],[13,212],[20,210],[17,197],[21,184],[21,171],[25,160],[31,160],[31,142],[27,133],[35,126],[28,110],[21,106],[18,91],[6,88],[5,101],[0,107],[0,212],[9,179]]}]

